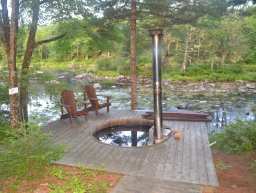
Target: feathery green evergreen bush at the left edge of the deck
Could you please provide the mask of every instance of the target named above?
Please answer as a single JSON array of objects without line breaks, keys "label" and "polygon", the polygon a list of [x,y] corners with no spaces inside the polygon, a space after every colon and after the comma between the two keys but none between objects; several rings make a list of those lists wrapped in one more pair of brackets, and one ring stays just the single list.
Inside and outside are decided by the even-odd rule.
[{"label": "feathery green evergreen bush at the left edge of the deck", "polygon": [[41,177],[45,166],[51,165],[51,160],[59,160],[68,148],[65,144],[52,145],[51,133],[42,132],[34,124],[20,123],[20,128],[4,132],[8,138],[0,148],[1,176],[27,180]]}]

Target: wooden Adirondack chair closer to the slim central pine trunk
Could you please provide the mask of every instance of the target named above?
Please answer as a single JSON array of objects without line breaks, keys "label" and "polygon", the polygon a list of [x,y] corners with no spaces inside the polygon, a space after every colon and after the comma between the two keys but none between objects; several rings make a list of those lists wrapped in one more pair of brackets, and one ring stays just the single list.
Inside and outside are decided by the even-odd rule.
[{"label": "wooden Adirondack chair closer to the slim central pine trunk", "polygon": [[[104,95],[96,95],[96,92],[94,90],[94,87],[92,86],[85,86],[85,92],[84,92],[84,100],[89,100],[91,106],[88,107],[88,111],[96,111],[96,116],[98,116],[99,112],[98,110],[104,107],[107,107],[107,112],[109,113],[109,107],[111,106],[111,103],[109,102],[109,99],[111,96],[104,96]],[[86,97],[87,96],[87,97]],[[106,103],[99,103],[99,99],[97,96],[104,96],[107,98]]]}]

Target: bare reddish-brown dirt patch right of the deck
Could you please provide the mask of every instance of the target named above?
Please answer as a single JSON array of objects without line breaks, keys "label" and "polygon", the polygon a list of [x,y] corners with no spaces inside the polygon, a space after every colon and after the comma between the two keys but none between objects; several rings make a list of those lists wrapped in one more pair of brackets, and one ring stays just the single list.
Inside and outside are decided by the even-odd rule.
[{"label": "bare reddish-brown dirt patch right of the deck", "polygon": [[212,155],[215,165],[218,158],[220,158],[225,165],[231,165],[227,170],[216,170],[219,182],[219,193],[256,192],[256,177],[253,176],[255,171],[250,170],[251,159],[256,159],[256,154],[229,155],[212,152]]}]

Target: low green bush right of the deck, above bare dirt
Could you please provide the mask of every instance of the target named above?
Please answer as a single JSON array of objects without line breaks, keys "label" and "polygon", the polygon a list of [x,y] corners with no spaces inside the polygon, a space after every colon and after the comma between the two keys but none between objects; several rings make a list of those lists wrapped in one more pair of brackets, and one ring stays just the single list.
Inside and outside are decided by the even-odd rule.
[{"label": "low green bush right of the deck, above bare dirt", "polygon": [[214,148],[228,153],[246,153],[256,150],[256,123],[252,121],[230,123],[222,132],[210,136],[216,141]]}]

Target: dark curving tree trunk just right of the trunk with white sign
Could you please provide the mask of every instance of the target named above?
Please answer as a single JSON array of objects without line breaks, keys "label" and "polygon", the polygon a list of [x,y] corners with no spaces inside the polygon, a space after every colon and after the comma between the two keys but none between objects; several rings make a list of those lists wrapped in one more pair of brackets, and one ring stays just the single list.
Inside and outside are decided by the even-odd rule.
[{"label": "dark curving tree trunk just right of the trunk with white sign", "polygon": [[31,28],[29,31],[27,49],[21,66],[20,80],[20,109],[24,113],[25,121],[28,122],[28,87],[29,87],[29,66],[34,50],[34,39],[36,37],[39,20],[39,0],[34,3]]}]

